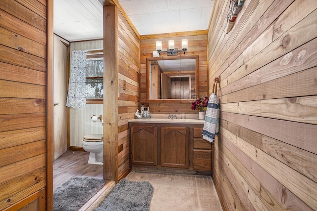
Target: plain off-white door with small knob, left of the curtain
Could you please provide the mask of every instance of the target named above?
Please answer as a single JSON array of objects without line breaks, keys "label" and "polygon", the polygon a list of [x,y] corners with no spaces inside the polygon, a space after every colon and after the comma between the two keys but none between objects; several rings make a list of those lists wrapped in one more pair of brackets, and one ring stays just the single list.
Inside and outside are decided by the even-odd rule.
[{"label": "plain off-white door with small knob, left of the curtain", "polygon": [[53,159],[67,151],[67,46],[54,35],[53,54]]}]

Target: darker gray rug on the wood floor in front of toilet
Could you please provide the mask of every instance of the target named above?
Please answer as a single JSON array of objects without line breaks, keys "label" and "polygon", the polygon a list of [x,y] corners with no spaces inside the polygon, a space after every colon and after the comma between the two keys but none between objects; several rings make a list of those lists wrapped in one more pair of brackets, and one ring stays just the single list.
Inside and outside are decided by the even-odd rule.
[{"label": "darker gray rug on the wood floor in front of toilet", "polygon": [[106,180],[74,177],[53,191],[54,211],[77,211],[90,200]]}]

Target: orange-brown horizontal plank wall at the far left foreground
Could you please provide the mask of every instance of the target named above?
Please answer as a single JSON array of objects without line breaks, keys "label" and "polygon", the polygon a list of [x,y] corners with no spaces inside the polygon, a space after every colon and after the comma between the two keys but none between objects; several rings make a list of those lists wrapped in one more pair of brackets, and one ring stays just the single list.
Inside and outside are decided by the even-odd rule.
[{"label": "orange-brown horizontal plank wall at the far left foreground", "polygon": [[47,1],[1,0],[0,34],[0,210],[45,210]]}]

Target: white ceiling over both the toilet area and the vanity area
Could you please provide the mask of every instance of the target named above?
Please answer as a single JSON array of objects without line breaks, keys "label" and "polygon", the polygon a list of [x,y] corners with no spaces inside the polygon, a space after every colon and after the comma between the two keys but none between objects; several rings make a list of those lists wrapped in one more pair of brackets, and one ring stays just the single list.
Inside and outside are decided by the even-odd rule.
[{"label": "white ceiling over both the toilet area and the vanity area", "polygon": [[[207,30],[214,0],[119,0],[140,35]],[[103,38],[98,0],[54,0],[54,33],[74,42]]]}]

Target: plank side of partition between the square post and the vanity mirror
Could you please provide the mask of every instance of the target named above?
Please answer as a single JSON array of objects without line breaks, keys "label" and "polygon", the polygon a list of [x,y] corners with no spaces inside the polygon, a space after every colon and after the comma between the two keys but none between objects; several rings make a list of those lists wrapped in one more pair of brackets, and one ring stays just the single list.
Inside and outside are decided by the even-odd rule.
[{"label": "plank side of partition between the square post and the vanity mirror", "polygon": [[140,106],[139,52],[139,37],[118,11],[118,179],[130,171],[128,120]]}]

